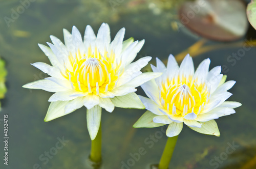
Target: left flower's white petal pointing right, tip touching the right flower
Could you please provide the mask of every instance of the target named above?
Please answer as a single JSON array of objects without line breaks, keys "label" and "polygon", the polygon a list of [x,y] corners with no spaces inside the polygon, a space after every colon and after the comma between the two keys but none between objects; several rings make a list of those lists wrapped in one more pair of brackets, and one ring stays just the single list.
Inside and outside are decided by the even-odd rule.
[{"label": "left flower's white petal pointing right, tip touching the right flower", "polygon": [[149,81],[153,78],[161,76],[162,73],[154,73],[154,72],[145,72],[137,77],[133,78],[131,81],[127,82],[125,85],[132,86],[132,87],[138,87],[142,85],[144,82]]}]

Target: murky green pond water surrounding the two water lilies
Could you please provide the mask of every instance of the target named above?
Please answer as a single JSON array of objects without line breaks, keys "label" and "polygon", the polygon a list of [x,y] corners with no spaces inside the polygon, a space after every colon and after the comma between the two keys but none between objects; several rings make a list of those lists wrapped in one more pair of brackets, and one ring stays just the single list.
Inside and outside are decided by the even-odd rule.
[{"label": "murky green pond water surrounding the two water lilies", "polygon": [[[30,65],[49,63],[37,43],[50,42],[50,35],[63,40],[62,29],[71,31],[73,25],[82,35],[88,24],[97,32],[101,23],[106,22],[110,25],[112,39],[122,27],[126,29],[125,39],[145,39],[136,60],[150,55],[153,57],[151,64],[155,65],[156,57],[166,60],[170,53],[177,55],[201,39],[189,34],[185,27],[173,29],[172,25],[178,19],[177,5],[174,1],[156,0],[0,0],[0,55],[8,70],[8,92],[1,100],[0,119],[5,114],[9,116],[9,165],[4,165],[1,159],[0,168],[91,168],[87,160],[91,140],[86,108],[44,122],[51,93],[22,88],[30,81],[47,77]],[[6,21],[6,17],[10,20]],[[249,31],[240,41],[245,42],[255,33],[254,30]],[[184,126],[169,168],[256,168],[253,163],[256,156],[256,50],[254,47],[244,50],[233,64],[228,61],[228,56],[241,52],[243,46],[232,46],[232,43],[229,47],[193,56],[193,60],[195,67],[206,58],[211,60],[210,69],[225,66],[227,69],[223,73],[227,80],[237,81],[229,91],[233,96],[228,100],[241,102],[243,106],[236,108],[236,114],[216,120],[220,137],[203,135]],[[210,40],[206,42],[206,45],[215,44],[227,45]],[[137,93],[145,95],[140,87]],[[141,169],[159,162],[167,140],[162,132],[165,128],[132,128],[144,112],[121,108],[115,108],[111,114],[102,111],[102,168]],[[2,129],[3,122],[0,122]],[[0,132],[3,158],[3,131]],[[140,148],[144,151],[138,156]]]}]

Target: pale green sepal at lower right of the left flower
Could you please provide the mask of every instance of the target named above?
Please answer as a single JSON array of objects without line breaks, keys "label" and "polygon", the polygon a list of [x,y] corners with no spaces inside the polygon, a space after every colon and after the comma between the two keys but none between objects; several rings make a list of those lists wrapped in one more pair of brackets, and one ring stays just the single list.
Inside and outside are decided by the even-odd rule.
[{"label": "pale green sepal at lower right of the left flower", "polygon": [[135,92],[124,96],[115,96],[114,98],[110,99],[115,107],[145,109],[144,104],[140,101]]}]

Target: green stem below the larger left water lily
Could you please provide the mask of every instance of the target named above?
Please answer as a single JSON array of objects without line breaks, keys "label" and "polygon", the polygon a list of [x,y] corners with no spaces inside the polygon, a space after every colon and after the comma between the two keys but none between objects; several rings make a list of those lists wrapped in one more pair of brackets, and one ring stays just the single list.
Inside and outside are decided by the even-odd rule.
[{"label": "green stem below the larger left water lily", "polygon": [[92,140],[90,158],[93,162],[101,162],[101,123],[97,136]]}]

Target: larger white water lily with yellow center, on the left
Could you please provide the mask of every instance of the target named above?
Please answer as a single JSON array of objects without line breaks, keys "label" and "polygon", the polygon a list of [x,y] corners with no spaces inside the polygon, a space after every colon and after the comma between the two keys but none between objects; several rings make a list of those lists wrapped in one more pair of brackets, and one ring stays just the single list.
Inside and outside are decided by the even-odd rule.
[{"label": "larger white water lily with yellow center, on the left", "polygon": [[49,74],[43,80],[23,86],[54,92],[45,121],[67,115],[86,106],[88,129],[93,140],[98,132],[101,107],[112,112],[114,107],[145,108],[134,93],[136,87],[161,74],[142,73],[151,57],[144,57],[131,63],[144,44],[144,40],[123,42],[122,28],[111,42],[109,25],[100,26],[97,37],[88,25],[82,41],[77,28],[72,34],[63,30],[65,44],[50,36],[53,44],[39,44],[48,56],[52,66],[45,63],[32,64]]}]

